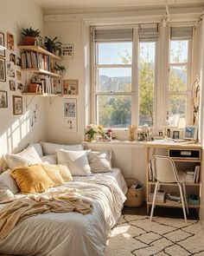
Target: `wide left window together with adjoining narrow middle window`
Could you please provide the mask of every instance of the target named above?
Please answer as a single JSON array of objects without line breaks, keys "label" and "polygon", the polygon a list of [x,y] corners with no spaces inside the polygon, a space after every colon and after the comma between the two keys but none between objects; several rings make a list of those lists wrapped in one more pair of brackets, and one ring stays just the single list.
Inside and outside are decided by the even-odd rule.
[{"label": "wide left window together with adjoining narrow middle window", "polygon": [[[98,124],[105,128],[153,125],[156,42],[149,41],[156,41],[156,33],[156,24],[137,30],[95,30],[94,120]],[[132,62],[138,53],[138,62]]]}]

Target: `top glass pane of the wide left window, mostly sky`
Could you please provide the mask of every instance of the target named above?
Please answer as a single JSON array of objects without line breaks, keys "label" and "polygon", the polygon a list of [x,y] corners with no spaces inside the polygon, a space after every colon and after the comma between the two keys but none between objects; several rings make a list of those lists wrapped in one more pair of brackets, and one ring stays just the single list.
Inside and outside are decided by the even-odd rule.
[{"label": "top glass pane of the wide left window, mostly sky", "polygon": [[97,43],[98,64],[131,64],[132,43]]}]

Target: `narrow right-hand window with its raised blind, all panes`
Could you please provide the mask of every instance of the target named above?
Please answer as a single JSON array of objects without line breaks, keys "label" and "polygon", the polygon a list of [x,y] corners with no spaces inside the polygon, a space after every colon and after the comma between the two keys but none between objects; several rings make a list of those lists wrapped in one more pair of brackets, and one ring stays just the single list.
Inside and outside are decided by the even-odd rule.
[{"label": "narrow right-hand window with its raised blind, all panes", "polygon": [[171,125],[184,127],[190,96],[189,52],[192,28],[171,28],[169,45],[168,114]]}]

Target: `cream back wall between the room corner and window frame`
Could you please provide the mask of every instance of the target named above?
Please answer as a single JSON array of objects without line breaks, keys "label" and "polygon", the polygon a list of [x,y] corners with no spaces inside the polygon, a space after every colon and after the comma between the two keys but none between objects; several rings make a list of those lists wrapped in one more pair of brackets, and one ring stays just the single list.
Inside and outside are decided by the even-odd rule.
[{"label": "cream back wall between the room corner and window frame", "polygon": [[[63,98],[59,97],[54,100],[52,105],[47,101],[47,136],[48,141],[59,143],[76,143],[81,142],[84,137],[84,57],[82,51],[82,23],[63,22],[63,23],[45,23],[45,36],[58,36],[62,43],[73,43],[74,57],[73,60],[63,60],[67,72],[63,79],[78,79],[79,94],[69,95],[68,98],[77,99],[78,108],[78,131],[77,133],[67,133],[64,129],[64,118],[62,102]],[[65,97],[65,96],[64,96]]]}]

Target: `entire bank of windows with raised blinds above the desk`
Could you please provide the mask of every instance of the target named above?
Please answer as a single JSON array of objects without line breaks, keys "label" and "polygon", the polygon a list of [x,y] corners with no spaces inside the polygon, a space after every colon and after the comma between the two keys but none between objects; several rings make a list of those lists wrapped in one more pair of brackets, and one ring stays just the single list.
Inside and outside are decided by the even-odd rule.
[{"label": "entire bank of windows with raised blinds above the desk", "polygon": [[[164,36],[169,27],[160,30]],[[190,122],[192,27],[170,28],[159,49],[156,23],[92,31],[92,122],[154,129],[165,115],[178,128]]]}]

